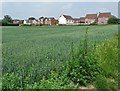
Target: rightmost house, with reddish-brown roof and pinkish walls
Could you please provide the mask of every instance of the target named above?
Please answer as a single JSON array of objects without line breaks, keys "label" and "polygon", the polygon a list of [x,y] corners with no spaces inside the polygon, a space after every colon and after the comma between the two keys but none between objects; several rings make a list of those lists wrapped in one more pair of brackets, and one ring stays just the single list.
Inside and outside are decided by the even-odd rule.
[{"label": "rightmost house, with reddish-brown roof and pinkish walls", "polygon": [[104,13],[100,13],[98,14],[98,24],[107,24],[108,19],[111,17],[111,13],[110,12],[104,12]]}]

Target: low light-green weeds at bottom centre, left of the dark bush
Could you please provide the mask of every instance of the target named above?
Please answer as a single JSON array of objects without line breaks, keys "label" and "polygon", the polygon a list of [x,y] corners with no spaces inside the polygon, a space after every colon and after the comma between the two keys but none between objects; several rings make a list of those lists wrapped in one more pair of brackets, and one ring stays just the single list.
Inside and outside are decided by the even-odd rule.
[{"label": "low light-green weeds at bottom centre, left of the dark bush", "polygon": [[74,84],[64,83],[62,76],[57,72],[51,71],[48,78],[43,79],[39,83],[34,83],[32,85],[27,85],[29,89],[73,89],[76,88]]}]

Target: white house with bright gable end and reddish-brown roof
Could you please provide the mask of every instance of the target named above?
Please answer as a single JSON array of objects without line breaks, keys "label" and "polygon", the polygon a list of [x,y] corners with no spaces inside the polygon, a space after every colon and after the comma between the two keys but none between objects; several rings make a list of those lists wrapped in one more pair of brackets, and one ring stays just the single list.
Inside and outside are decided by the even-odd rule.
[{"label": "white house with bright gable end and reddish-brown roof", "polygon": [[59,21],[59,24],[72,24],[72,23],[74,23],[73,18],[69,15],[60,16],[58,21]]}]

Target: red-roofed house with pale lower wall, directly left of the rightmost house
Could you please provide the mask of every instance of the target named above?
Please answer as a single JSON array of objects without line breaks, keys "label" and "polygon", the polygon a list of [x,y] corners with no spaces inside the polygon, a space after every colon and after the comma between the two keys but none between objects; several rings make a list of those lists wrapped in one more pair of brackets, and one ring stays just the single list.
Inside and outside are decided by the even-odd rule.
[{"label": "red-roofed house with pale lower wall, directly left of the rightmost house", "polygon": [[85,17],[85,24],[97,23],[97,14],[87,14]]}]

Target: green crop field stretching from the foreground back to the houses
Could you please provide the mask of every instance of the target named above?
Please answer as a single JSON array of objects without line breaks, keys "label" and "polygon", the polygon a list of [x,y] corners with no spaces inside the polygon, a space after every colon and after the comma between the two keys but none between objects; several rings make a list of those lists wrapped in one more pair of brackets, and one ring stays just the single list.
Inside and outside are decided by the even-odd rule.
[{"label": "green crop field stretching from the foreground back to the houses", "polygon": [[[89,41],[87,45],[90,46],[88,50],[92,49],[95,43],[99,45],[116,37],[118,32],[117,25],[4,26],[2,29],[3,87],[30,88],[29,85],[39,83],[44,76],[47,79],[51,71],[62,71],[62,66],[71,58],[72,47],[77,50],[80,43],[83,44],[86,29],[88,29],[87,41]],[[80,46],[79,49],[82,47]],[[113,60],[116,60],[116,54],[112,55],[114,55]],[[106,76],[109,77],[108,75]],[[116,75],[112,76],[116,77]]]}]

